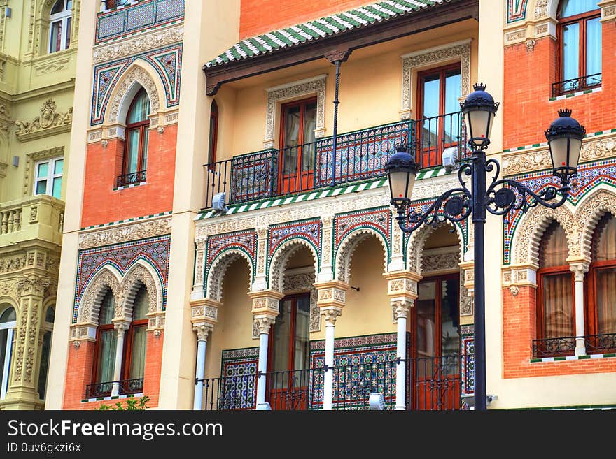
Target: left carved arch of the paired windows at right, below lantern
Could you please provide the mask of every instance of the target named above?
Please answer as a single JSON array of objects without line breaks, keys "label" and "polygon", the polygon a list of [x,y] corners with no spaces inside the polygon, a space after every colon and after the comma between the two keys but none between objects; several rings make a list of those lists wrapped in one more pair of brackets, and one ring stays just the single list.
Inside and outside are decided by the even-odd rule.
[{"label": "left carved arch of the paired windows at right, below lantern", "polygon": [[580,232],[569,209],[568,203],[550,209],[549,207],[533,207],[522,217],[517,231],[512,239],[512,252],[514,252],[514,264],[539,265],[539,243],[545,228],[552,222],[558,221],[567,235],[569,249],[568,256],[580,254]]}]

